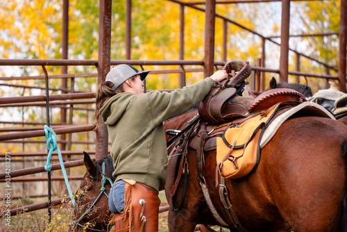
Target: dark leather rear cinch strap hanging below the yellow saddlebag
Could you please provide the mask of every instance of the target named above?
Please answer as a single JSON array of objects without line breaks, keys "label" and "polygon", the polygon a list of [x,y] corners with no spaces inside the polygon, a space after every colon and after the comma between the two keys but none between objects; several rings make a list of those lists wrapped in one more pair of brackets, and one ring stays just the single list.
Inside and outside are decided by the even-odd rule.
[{"label": "dark leather rear cinch strap hanging below the yellow saddlebag", "polygon": [[226,188],[226,179],[224,179],[223,177],[221,177],[221,183],[219,184],[219,197],[221,198],[221,202],[223,203],[224,208],[226,208],[226,213],[228,213],[230,221],[235,226],[237,231],[247,232],[247,230],[244,229],[244,226],[242,226],[242,224],[239,222],[239,219],[237,219],[234,208],[232,208],[228,189]]}]

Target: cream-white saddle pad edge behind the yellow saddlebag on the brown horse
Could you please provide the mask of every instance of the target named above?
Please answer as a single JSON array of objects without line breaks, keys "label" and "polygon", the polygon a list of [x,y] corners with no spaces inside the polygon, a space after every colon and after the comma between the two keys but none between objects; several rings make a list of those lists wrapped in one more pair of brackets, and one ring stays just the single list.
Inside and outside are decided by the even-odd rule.
[{"label": "cream-white saddle pad edge behind the yellow saddlebag on the brown horse", "polygon": [[332,115],[323,106],[320,106],[312,101],[305,101],[273,119],[271,124],[266,127],[264,134],[262,135],[262,139],[260,140],[260,148],[263,148],[271,140],[271,138],[273,138],[273,135],[275,135],[276,131],[280,128],[280,125],[282,125],[282,123],[285,122],[289,117],[302,116],[329,117],[336,120],[334,115]]}]

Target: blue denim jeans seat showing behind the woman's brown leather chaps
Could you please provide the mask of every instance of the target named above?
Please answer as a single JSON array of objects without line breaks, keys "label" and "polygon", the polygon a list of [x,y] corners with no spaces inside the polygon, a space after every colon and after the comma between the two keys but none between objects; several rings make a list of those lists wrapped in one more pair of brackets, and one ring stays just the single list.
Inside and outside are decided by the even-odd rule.
[{"label": "blue denim jeans seat showing behind the woman's brown leather chaps", "polygon": [[108,207],[112,213],[122,213],[124,211],[124,187],[126,181],[119,180],[113,183],[108,196]]}]

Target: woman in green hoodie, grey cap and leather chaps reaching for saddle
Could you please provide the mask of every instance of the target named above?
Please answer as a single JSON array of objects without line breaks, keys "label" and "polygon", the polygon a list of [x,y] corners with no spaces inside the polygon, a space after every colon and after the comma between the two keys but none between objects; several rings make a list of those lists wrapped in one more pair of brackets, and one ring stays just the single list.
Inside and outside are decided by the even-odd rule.
[{"label": "woman in green hoodie, grey cap and leather chaps reaching for saddle", "polygon": [[108,126],[115,167],[109,208],[122,213],[121,218],[130,215],[130,231],[158,231],[158,191],[164,189],[168,163],[162,122],[193,108],[214,81],[228,76],[219,70],[179,90],[144,93],[142,81],[148,73],[117,65],[96,93],[96,118],[101,115]]}]

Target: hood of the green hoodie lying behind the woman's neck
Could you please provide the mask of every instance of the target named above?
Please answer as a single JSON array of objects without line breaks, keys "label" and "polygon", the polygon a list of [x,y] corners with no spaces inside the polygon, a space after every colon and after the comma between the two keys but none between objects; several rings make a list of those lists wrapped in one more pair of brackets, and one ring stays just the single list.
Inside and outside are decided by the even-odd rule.
[{"label": "hood of the green hoodie lying behind the woman's neck", "polygon": [[136,97],[136,94],[120,92],[108,99],[100,109],[103,122],[108,126],[116,124],[134,97]]}]

